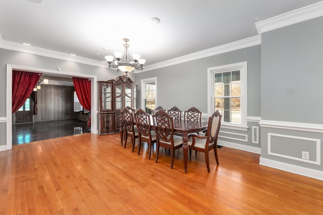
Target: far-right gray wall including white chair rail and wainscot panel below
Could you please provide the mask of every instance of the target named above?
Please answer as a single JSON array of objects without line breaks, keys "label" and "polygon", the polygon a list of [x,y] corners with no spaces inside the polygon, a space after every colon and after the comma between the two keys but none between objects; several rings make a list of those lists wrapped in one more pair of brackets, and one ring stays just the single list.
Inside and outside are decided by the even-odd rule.
[{"label": "far-right gray wall including white chair rail and wainscot panel below", "polygon": [[260,163],[323,170],[322,23],[320,17],[261,35]]}]

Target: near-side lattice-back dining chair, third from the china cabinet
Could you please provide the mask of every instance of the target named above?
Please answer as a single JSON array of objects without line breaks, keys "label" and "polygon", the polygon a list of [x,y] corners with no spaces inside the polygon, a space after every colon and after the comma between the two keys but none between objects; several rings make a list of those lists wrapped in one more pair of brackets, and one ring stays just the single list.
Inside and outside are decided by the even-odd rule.
[{"label": "near-side lattice-back dining chair, third from the china cabinet", "polygon": [[174,164],[175,150],[183,146],[182,137],[174,135],[174,118],[163,110],[158,110],[153,116],[156,133],[156,163],[158,161],[159,147],[171,151],[171,168]]}]

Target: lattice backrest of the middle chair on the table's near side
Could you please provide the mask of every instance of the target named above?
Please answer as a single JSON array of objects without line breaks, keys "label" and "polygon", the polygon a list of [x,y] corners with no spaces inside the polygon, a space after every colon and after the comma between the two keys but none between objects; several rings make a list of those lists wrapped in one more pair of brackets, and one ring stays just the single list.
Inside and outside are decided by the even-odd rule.
[{"label": "lattice backrest of the middle chair on the table's near side", "polygon": [[139,135],[150,138],[150,115],[144,110],[138,109],[135,113],[135,121]]}]

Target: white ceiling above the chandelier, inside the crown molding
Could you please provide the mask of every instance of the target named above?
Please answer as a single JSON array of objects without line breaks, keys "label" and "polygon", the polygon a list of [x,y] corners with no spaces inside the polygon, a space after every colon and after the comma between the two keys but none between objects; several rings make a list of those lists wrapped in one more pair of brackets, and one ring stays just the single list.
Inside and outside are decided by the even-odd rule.
[{"label": "white ceiling above the chandelier, inside the crown molding", "polygon": [[[318,0],[2,0],[0,41],[102,62],[139,53],[152,65],[257,35],[255,23]],[[38,0],[39,1],[39,0]],[[159,24],[150,22],[158,17]],[[104,51],[102,48],[109,49]],[[96,55],[95,53],[100,53]]]}]

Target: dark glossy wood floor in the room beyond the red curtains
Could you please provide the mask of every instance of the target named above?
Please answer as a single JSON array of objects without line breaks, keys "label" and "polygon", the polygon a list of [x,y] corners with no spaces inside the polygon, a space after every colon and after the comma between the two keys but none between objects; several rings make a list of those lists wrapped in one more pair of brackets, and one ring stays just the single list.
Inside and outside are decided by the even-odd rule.
[{"label": "dark glossy wood floor in the room beyond the red curtains", "polygon": [[12,145],[87,133],[85,121],[78,119],[12,125]]}]

